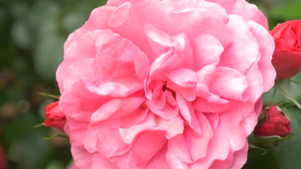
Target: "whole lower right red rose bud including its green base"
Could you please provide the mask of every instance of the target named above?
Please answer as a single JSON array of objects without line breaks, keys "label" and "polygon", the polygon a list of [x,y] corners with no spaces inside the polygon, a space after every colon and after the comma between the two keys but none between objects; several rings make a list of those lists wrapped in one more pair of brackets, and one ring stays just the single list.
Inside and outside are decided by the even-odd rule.
[{"label": "whole lower right red rose bud including its green base", "polygon": [[259,123],[260,121],[262,123],[254,130],[259,144],[265,147],[275,147],[293,135],[290,119],[285,115],[286,111],[275,105],[263,109],[261,114],[264,115],[265,120],[262,122],[260,117],[263,116],[260,116]]}]

